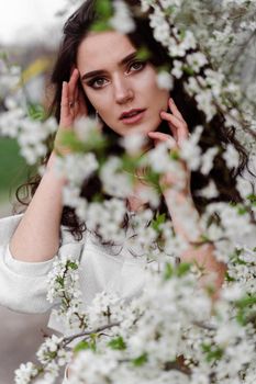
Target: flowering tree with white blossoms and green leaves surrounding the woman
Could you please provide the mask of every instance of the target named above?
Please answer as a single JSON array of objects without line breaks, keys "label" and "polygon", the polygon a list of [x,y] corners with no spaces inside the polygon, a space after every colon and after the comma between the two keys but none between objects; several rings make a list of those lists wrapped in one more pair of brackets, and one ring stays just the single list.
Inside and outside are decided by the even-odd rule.
[{"label": "flowering tree with white blossoms and green leaves surrounding the woman", "polygon": [[[104,24],[122,33],[134,29],[126,2],[116,0],[113,8],[109,1],[99,4]],[[249,74],[244,83],[241,77],[255,38],[255,2],[142,0],[136,11],[146,14],[151,11],[154,37],[166,47],[174,63],[170,71],[159,69],[159,87],[171,89],[174,81],[186,72],[186,92],[194,98],[207,122],[222,112],[226,129],[235,127],[237,139],[253,153],[256,87],[245,87]],[[34,163],[45,154],[47,136],[56,131],[57,124],[53,118],[46,120],[40,109],[29,109],[27,115],[24,100],[10,98],[10,90],[19,82],[19,68],[8,66],[2,58],[0,70],[1,97],[7,109],[0,116],[1,134],[16,137],[22,155]],[[182,165],[205,176],[221,155],[232,171],[238,163],[237,151],[231,144],[224,151],[218,146],[202,151],[199,140],[203,127],[198,126],[179,148],[162,144],[137,156],[143,137],[129,136],[122,139],[123,155],[109,157],[109,143],[98,124],[89,117],[80,118],[74,131],[62,138],[73,149],[70,155],[59,156],[56,163],[56,171],[68,181],[63,191],[64,203],[74,207],[80,219],[86,217],[87,229],[97,231],[103,241],[119,244],[125,239],[135,249],[143,247],[146,260],[154,262],[147,263],[140,297],[126,303],[113,293],[102,292],[85,307],[78,261],[73,255],[56,257],[48,276],[47,298],[58,304],[54,310],[71,336],[47,338],[36,353],[38,364],[22,364],[15,372],[15,383],[35,380],[41,384],[54,383],[59,368],[71,362],[69,380],[74,384],[253,384],[256,263],[252,239],[256,196],[252,184],[237,177],[242,202],[214,202],[219,191],[209,176],[209,184],[199,192],[209,200],[202,215],[190,217],[186,205],[178,212],[190,233],[199,223],[200,245],[214,245],[214,256],[227,266],[216,301],[212,300],[210,280],[198,285],[204,274],[200,266],[177,264],[188,244],[175,234],[168,217],[154,216],[153,212],[160,202],[164,174],[177,174],[176,188],[182,189],[186,179]],[[146,169],[146,174],[141,176],[141,169]],[[103,195],[93,201],[80,196],[81,184],[93,174],[101,180],[110,200],[105,201]],[[122,223],[135,174],[154,187],[146,196],[152,208],[131,215],[130,223],[137,236],[127,240]]]}]

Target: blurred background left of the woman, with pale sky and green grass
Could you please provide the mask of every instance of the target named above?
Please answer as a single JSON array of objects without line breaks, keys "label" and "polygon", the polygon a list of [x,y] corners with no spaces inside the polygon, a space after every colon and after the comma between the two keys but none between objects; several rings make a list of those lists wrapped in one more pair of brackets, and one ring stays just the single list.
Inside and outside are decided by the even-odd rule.
[{"label": "blurred background left of the woman, with pale sky and green grass", "polygon": [[[65,7],[65,0],[0,2],[0,53],[8,54],[12,64],[22,67],[26,95],[33,102],[47,102],[47,81]],[[1,218],[13,213],[16,187],[25,182],[30,171],[15,139],[0,136]],[[22,362],[35,360],[43,335],[48,332],[48,314],[24,315],[0,306],[0,383],[12,384],[14,370]]]}]

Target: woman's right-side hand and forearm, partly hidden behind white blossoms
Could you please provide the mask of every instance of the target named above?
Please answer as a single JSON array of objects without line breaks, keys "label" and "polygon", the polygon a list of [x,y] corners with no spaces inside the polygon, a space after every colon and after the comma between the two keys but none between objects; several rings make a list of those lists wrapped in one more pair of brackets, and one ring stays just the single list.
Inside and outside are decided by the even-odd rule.
[{"label": "woman's right-side hand and forearm, partly hidden behind white blossoms", "polygon": [[[189,137],[188,125],[172,99],[169,100],[169,108],[171,113],[162,112],[160,116],[168,122],[172,137],[160,132],[151,132],[148,136],[158,143],[168,142],[171,149],[179,149],[182,142]],[[180,235],[188,242],[188,249],[182,252],[181,261],[194,262],[196,266],[202,269],[204,274],[200,279],[200,285],[212,286],[212,300],[214,301],[218,298],[224,281],[226,267],[215,259],[213,245],[202,244],[200,246],[200,221],[190,193],[190,172],[185,161],[179,161],[186,174],[185,189],[175,189],[177,183],[176,174],[165,174],[163,177],[164,196],[176,234]],[[196,246],[193,246],[193,242],[196,242]]]}]

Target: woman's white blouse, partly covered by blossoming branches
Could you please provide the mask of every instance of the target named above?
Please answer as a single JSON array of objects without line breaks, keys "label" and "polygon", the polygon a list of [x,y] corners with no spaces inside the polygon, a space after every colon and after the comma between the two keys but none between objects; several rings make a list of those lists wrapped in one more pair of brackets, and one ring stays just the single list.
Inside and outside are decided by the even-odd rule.
[{"label": "woman's white blouse, partly covered by blossoming branches", "polygon": [[[43,313],[52,308],[46,293],[47,274],[54,258],[44,262],[24,262],[12,257],[9,242],[21,218],[22,215],[15,215],[0,219],[0,304],[16,312]],[[102,291],[115,292],[126,300],[142,292],[144,257],[134,257],[125,245],[114,255],[88,234],[76,241],[66,227],[62,227],[62,238],[58,255],[74,256],[80,261],[85,306]],[[48,326],[63,331],[53,314]]]}]

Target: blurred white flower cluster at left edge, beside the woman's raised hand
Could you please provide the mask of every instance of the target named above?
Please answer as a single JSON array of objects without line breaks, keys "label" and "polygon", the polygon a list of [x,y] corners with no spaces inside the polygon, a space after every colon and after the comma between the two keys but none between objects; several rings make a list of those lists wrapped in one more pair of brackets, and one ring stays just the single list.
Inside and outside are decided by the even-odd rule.
[{"label": "blurred white flower cluster at left edge, beside the woman's raised hand", "polygon": [[[0,136],[16,138],[21,155],[34,165],[46,155],[46,139],[57,131],[57,123],[54,117],[35,118],[36,106],[26,105],[21,74],[20,67],[0,58],[0,101],[4,108],[0,113]],[[42,108],[40,113],[43,114]]]}]

